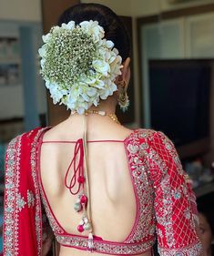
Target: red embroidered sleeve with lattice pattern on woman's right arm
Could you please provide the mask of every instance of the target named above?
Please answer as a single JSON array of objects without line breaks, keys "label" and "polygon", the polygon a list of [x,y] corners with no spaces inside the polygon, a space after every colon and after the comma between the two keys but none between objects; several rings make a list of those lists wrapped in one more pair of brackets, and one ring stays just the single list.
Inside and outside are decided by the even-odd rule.
[{"label": "red embroidered sleeve with lattice pattern on woman's right arm", "polygon": [[202,256],[195,225],[195,195],[173,143],[163,133],[156,132],[150,156],[159,254]]}]

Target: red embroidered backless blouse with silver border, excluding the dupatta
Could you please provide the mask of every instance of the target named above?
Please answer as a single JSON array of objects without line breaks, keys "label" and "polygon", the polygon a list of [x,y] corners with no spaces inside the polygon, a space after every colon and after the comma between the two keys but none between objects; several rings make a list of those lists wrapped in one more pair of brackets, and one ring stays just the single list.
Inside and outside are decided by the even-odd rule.
[{"label": "red embroidered backless blouse with silver border, excluding the dupatta", "polygon": [[[41,138],[38,148],[43,142]],[[137,255],[151,250],[157,232],[160,255],[200,255],[201,246],[194,220],[195,197],[171,141],[161,132],[138,129],[124,141],[117,142],[124,143],[127,151],[137,216],[126,241],[104,241],[95,236],[95,251],[112,255]],[[87,251],[87,236],[67,233],[51,210],[39,164],[38,177],[46,216],[56,241],[62,246]]]}]

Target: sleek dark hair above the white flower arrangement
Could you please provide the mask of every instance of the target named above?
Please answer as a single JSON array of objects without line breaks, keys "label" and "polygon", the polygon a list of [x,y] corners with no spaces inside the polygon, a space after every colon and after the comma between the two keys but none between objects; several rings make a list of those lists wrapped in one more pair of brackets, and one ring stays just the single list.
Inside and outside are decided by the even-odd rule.
[{"label": "sleek dark hair above the white flower arrangement", "polygon": [[102,26],[105,30],[105,38],[115,44],[123,61],[129,56],[130,42],[127,29],[120,18],[107,6],[99,4],[71,6],[59,17],[58,26],[71,20],[75,21],[76,24],[82,21],[97,21],[99,26]]}]

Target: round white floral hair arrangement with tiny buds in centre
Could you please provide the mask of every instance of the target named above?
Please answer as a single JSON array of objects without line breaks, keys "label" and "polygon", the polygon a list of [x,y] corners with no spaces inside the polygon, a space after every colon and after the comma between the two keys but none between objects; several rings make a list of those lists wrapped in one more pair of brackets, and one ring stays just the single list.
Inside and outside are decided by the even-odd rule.
[{"label": "round white floral hair arrangement with tiny buds in centre", "polygon": [[91,20],[54,26],[43,36],[41,74],[54,104],[84,114],[117,91],[122,58],[104,35],[103,27]]}]

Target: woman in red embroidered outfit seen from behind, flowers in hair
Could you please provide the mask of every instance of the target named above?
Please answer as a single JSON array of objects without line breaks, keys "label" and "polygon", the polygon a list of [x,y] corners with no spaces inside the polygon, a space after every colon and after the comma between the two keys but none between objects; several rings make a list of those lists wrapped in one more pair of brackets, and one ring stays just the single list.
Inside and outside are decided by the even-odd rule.
[{"label": "woman in red embroidered outfit seen from behind, flowers in hair", "polygon": [[43,40],[46,87],[71,115],[7,149],[5,255],[45,254],[46,217],[60,256],[150,256],[156,230],[160,255],[202,255],[195,198],[173,144],[115,116],[117,103],[127,108],[130,78],[117,15],[104,5],[76,5]]}]

